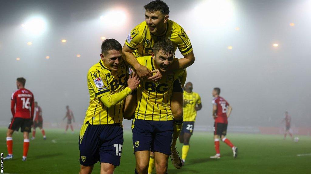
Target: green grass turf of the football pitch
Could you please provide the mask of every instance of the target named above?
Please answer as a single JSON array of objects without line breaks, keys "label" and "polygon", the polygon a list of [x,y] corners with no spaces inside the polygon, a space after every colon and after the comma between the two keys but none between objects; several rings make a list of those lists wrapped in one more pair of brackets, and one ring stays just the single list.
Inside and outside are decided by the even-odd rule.
[{"label": "green grass turf of the football pitch", "polygon": [[[64,134],[63,130],[46,130],[47,140],[37,131],[35,140],[30,141],[30,149],[26,162],[21,161],[23,138],[22,133],[13,135],[14,159],[4,162],[4,173],[22,174],[77,174],[78,162],[78,131],[75,134]],[[0,152],[7,155],[6,128],[0,128]],[[281,135],[260,134],[229,134],[228,138],[239,147],[237,159],[232,156],[230,147],[220,142],[221,159],[209,159],[215,154],[212,133],[195,132],[191,137],[191,148],[186,166],[175,169],[169,164],[168,173],[310,173],[311,156],[297,156],[297,154],[311,153],[311,137],[299,136],[298,143],[283,140]],[[132,153],[132,133],[125,131],[122,149],[121,166],[115,174],[134,173],[135,157]],[[52,142],[52,140],[54,140]],[[177,144],[181,152],[181,144]],[[99,163],[95,164],[93,173],[100,173]]]}]

